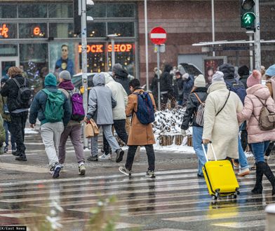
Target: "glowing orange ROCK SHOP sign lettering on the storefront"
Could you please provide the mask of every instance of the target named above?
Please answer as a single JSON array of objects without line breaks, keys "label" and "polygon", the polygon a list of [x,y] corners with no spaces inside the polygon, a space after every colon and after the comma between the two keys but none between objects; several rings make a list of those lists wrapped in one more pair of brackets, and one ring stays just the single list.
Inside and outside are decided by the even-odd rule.
[{"label": "glowing orange ROCK SHOP sign lettering on the storefront", "polygon": [[[112,52],[112,45],[108,45],[108,52]],[[87,45],[87,53],[102,53],[103,52],[103,45],[102,44],[93,44]],[[133,49],[133,44],[129,43],[121,43],[121,44],[114,44],[114,52],[130,52]],[[79,53],[81,53],[81,45],[79,45]]]}]

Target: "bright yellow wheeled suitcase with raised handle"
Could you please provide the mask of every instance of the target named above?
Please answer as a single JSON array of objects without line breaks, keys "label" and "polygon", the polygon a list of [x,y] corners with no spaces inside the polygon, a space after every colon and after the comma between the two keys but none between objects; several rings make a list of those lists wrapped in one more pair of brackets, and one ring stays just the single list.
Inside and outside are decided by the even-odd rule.
[{"label": "bright yellow wheeled suitcase with raised handle", "polygon": [[206,179],[209,194],[214,200],[217,197],[229,196],[236,198],[239,195],[239,183],[236,179],[232,164],[229,160],[217,160],[213,144],[210,143],[215,161],[208,161],[206,150],[203,146],[203,152],[206,156],[206,164],[203,166],[203,176]]}]

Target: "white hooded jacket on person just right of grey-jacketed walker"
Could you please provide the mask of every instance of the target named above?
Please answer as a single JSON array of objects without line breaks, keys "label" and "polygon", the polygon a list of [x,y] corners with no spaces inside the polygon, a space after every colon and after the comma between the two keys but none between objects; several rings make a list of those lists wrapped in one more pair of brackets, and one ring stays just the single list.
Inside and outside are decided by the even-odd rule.
[{"label": "white hooded jacket on person just right of grey-jacketed walker", "polygon": [[105,87],[112,91],[112,95],[116,100],[116,106],[113,109],[114,120],[125,120],[125,107],[128,102],[128,94],[120,83],[117,83],[109,73],[105,72]]}]

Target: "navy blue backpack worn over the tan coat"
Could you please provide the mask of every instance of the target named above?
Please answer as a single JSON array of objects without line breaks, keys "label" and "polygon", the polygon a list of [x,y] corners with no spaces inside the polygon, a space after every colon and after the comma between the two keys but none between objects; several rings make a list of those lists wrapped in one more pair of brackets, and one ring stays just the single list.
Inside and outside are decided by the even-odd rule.
[{"label": "navy blue backpack worn over the tan coat", "polygon": [[148,125],[149,123],[153,123],[154,118],[154,106],[152,99],[148,92],[133,93],[137,95],[137,111],[135,111],[137,115],[137,119],[140,120],[140,123],[143,125]]}]

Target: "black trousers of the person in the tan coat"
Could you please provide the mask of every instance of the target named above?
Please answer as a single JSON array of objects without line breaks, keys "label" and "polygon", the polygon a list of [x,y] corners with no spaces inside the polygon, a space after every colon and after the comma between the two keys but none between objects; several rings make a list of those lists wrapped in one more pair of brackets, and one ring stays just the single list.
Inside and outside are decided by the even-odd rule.
[{"label": "black trousers of the person in the tan coat", "polygon": [[[148,158],[148,170],[154,171],[154,162],[155,162],[155,155],[154,155],[154,148],[152,144],[145,145],[146,154]],[[129,146],[128,153],[127,153],[127,160],[126,160],[126,169],[132,170],[134,158],[135,158],[135,151],[137,151],[137,146]]]}]

